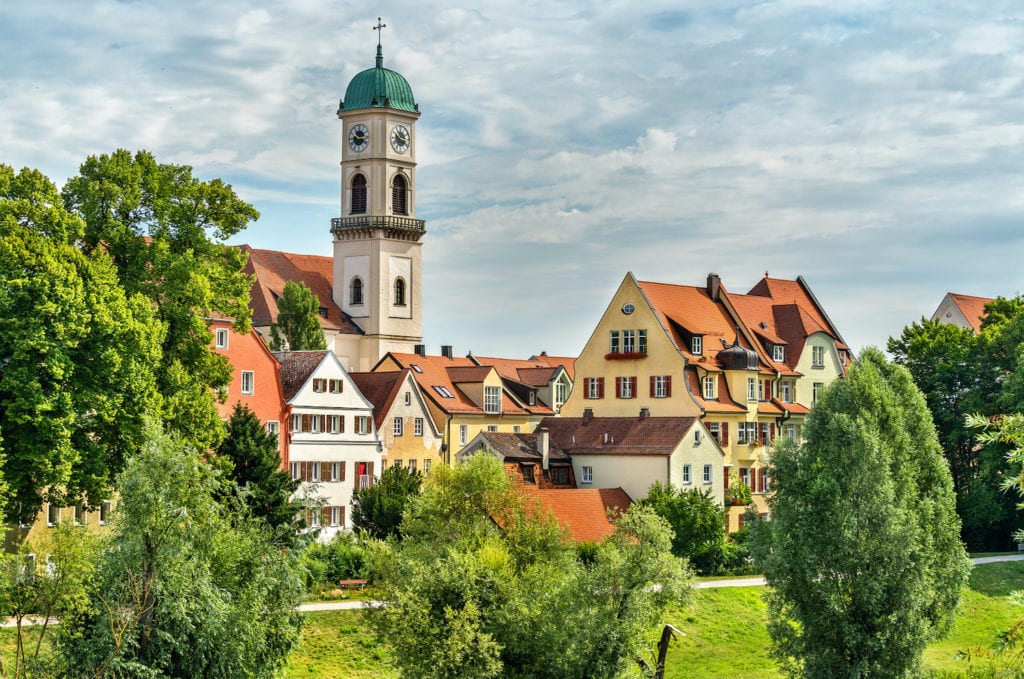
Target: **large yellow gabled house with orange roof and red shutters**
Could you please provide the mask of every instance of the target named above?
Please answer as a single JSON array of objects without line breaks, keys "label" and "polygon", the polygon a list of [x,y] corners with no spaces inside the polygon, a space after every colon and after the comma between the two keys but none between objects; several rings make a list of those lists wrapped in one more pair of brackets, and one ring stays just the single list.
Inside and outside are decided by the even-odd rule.
[{"label": "large yellow gabled house with orange roof and red shutters", "polygon": [[[744,482],[768,511],[768,445],[797,438],[849,349],[803,279],[765,277],[746,295],[629,273],[575,363],[565,417],[699,417],[725,453],[723,484]],[[726,497],[728,502],[728,496]],[[743,508],[730,507],[729,528]]]}]

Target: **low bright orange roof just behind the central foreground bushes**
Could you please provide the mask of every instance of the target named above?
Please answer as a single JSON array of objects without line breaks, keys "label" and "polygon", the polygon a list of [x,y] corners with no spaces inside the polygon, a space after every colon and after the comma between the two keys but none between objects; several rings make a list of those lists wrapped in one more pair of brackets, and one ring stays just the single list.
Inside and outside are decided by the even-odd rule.
[{"label": "low bright orange roof just behind the central foreground bushes", "polygon": [[615,532],[608,518],[609,510],[618,514],[633,504],[626,491],[618,489],[530,489],[523,487],[527,502],[548,510],[568,531],[573,542],[601,542]]}]

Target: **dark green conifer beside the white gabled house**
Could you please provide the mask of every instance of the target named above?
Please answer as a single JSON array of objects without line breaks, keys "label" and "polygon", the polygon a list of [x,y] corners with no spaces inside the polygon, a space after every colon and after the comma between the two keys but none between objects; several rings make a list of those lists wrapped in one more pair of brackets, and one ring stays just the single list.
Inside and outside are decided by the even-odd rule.
[{"label": "dark green conifer beside the white gabled house", "polygon": [[246,406],[237,404],[217,458],[229,480],[228,493],[237,494],[248,514],[266,524],[274,542],[293,544],[302,528],[296,516],[305,506],[292,497],[299,482],[282,469],[278,434],[268,432]]}]

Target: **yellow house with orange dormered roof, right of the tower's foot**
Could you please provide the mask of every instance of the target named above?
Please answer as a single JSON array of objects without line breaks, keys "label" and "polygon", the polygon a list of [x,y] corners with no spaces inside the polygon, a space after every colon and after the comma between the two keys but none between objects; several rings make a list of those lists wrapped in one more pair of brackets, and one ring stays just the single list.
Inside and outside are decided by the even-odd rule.
[{"label": "yellow house with orange dormered roof, right of the tower's foot", "polygon": [[388,353],[374,372],[409,370],[424,395],[427,412],[440,431],[441,454],[452,462],[455,451],[481,431],[529,433],[554,409],[539,395],[539,387],[509,385],[493,366],[478,365],[472,357],[442,354]]}]

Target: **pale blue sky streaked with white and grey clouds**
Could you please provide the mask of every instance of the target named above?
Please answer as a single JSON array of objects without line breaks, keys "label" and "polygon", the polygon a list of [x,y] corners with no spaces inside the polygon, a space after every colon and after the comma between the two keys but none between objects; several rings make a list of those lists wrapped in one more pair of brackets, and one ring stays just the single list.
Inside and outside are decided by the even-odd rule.
[{"label": "pale blue sky streaked with white and grey clouds", "polygon": [[348,81],[413,87],[424,339],[577,355],[622,283],[803,275],[846,342],[1022,292],[1024,5],[0,4],[0,163],[145,148],[330,255]]}]

